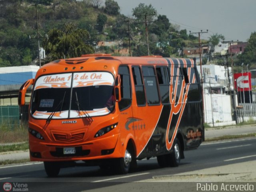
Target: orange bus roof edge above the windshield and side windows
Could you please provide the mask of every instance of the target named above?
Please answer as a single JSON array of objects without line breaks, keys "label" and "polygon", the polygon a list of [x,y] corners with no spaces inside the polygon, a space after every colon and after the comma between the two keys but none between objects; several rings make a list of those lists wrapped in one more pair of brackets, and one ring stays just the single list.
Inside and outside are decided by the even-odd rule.
[{"label": "orange bus roof edge above the windshield and side windows", "polygon": [[194,67],[195,62],[188,58],[163,58],[161,56],[111,56],[110,54],[82,55],[78,58],[59,59],[43,65],[36,75],[63,72],[78,72],[81,70],[117,70],[120,64],[132,65],[176,65],[179,67]]}]

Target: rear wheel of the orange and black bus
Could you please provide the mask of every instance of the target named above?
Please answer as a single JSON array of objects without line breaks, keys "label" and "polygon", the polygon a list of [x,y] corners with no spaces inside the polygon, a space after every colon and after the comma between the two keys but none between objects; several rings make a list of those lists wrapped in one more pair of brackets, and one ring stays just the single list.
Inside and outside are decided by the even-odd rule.
[{"label": "rear wheel of the orange and black bus", "polygon": [[174,144],[172,146],[172,153],[168,155],[168,162],[171,167],[178,167],[180,164],[181,155],[180,141],[178,138],[174,139]]}]

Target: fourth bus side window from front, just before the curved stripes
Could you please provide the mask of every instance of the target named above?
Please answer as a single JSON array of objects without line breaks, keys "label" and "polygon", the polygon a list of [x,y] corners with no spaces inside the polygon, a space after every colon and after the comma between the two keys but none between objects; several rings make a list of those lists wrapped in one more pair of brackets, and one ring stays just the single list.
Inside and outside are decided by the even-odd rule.
[{"label": "fourth bus side window from front, just before the curved stripes", "polygon": [[167,67],[157,67],[156,74],[158,78],[160,96],[162,104],[170,103],[170,76]]}]

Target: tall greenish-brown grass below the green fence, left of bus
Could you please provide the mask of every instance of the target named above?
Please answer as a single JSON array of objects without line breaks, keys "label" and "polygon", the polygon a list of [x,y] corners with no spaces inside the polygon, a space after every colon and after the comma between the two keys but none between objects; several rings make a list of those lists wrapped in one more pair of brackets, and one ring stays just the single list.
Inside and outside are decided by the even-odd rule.
[{"label": "tall greenish-brown grass below the green fence, left of bus", "polygon": [[0,125],[0,142],[28,142],[28,125],[10,126],[8,124]]}]

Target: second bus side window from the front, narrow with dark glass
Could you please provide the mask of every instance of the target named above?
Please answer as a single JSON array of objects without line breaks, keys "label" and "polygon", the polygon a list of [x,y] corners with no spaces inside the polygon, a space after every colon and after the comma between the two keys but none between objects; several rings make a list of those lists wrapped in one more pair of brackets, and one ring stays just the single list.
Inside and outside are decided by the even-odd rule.
[{"label": "second bus side window from the front, narrow with dark glass", "polygon": [[132,67],[132,76],[134,80],[137,105],[145,106],[146,105],[145,90],[144,90],[144,84],[143,84],[141,70],[139,66]]}]

